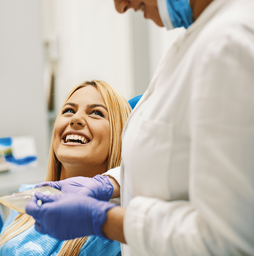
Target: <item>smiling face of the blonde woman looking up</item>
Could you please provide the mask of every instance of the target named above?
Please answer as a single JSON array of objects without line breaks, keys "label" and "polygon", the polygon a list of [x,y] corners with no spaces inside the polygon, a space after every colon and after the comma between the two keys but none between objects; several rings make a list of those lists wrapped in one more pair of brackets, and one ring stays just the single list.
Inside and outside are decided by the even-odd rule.
[{"label": "smiling face of the blonde woman looking up", "polygon": [[86,174],[88,177],[105,172],[110,124],[108,111],[97,89],[91,85],[78,89],[61,112],[55,123],[53,149],[62,170],[63,167],[96,170],[96,173]]}]

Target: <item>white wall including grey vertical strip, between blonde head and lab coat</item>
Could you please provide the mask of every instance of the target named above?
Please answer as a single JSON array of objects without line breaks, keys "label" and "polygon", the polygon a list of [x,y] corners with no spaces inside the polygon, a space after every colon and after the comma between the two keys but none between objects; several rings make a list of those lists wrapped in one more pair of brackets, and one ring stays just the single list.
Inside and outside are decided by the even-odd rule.
[{"label": "white wall including grey vertical strip, between blonde head and lab coat", "polygon": [[127,100],[143,94],[174,33],[113,0],[43,0],[44,41],[56,68],[56,112],[78,83],[100,79]]}]

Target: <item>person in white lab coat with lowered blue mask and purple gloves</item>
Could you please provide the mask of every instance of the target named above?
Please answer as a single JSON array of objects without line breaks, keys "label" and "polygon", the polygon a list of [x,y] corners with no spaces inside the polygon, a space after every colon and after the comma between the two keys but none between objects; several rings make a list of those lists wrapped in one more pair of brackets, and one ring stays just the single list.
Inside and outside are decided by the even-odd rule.
[{"label": "person in white lab coat with lowered blue mask and purple gloves", "polygon": [[121,206],[65,186],[27,213],[52,237],[120,241],[123,256],[254,255],[254,1],[115,6],[185,27],[125,125]]}]

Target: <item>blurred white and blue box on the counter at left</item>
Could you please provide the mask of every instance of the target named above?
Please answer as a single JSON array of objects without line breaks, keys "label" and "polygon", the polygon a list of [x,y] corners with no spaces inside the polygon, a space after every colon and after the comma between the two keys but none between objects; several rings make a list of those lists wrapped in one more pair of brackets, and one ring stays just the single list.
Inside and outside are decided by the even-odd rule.
[{"label": "blurred white and blue box on the counter at left", "polygon": [[37,166],[37,153],[33,136],[0,138],[0,172],[24,170]]}]

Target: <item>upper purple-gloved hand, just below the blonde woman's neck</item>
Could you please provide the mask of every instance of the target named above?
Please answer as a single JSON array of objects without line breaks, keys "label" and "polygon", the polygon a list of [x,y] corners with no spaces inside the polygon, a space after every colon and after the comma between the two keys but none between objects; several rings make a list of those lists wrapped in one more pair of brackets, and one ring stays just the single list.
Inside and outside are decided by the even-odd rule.
[{"label": "upper purple-gloved hand, just below the blonde woman's neck", "polygon": [[113,194],[113,186],[108,176],[96,175],[94,178],[72,177],[62,181],[47,181],[38,186],[52,186],[55,189],[76,195],[88,195],[99,200],[108,201]]}]

